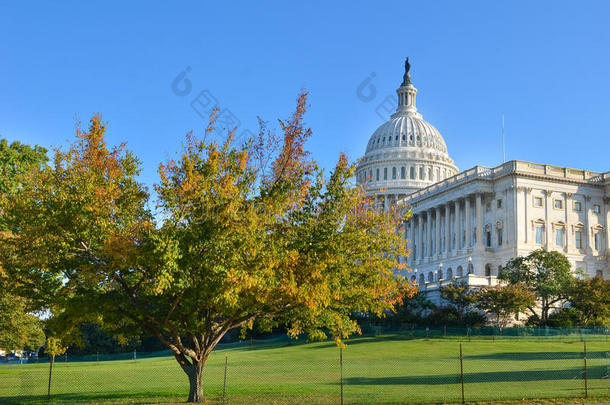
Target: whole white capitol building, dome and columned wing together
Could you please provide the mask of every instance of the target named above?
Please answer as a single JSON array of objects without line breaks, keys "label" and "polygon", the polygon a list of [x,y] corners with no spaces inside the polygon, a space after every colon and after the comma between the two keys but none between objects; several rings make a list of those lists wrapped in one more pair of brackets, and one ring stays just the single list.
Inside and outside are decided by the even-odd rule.
[{"label": "whole white capitol building, dome and columned wing together", "polygon": [[513,160],[460,172],[416,108],[410,65],[398,107],[371,136],[356,171],[380,206],[411,210],[408,277],[438,300],[456,280],[495,285],[499,269],[545,248],[574,270],[610,278],[610,172]]}]

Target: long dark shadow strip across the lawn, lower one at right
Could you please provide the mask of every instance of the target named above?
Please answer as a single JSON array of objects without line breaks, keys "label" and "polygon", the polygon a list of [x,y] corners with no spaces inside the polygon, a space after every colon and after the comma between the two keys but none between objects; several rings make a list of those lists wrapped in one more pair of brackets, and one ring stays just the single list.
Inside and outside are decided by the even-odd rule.
[{"label": "long dark shadow strip across the lawn, lower one at right", "polygon": [[[590,380],[601,379],[607,375],[605,366],[589,367],[587,375]],[[464,383],[516,382],[516,381],[552,381],[552,380],[582,380],[582,368],[563,370],[527,370],[527,371],[490,371],[465,373]],[[460,375],[421,375],[399,377],[349,377],[344,379],[347,385],[445,385],[459,384]],[[339,383],[333,383],[339,384]]]}]

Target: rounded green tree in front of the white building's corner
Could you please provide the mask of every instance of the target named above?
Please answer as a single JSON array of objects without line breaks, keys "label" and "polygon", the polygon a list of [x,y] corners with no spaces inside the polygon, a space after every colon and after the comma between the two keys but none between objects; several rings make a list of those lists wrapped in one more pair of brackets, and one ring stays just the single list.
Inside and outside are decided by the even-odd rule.
[{"label": "rounded green tree in front of the white building's corner", "polygon": [[500,280],[523,284],[534,292],[540,315],[534,305],[528,306],[532,316],[546,325],[549,312],[568,298],[574,277],[570,262],[560,252],[539,249],[525,257],[510,260],[500,272]]}]

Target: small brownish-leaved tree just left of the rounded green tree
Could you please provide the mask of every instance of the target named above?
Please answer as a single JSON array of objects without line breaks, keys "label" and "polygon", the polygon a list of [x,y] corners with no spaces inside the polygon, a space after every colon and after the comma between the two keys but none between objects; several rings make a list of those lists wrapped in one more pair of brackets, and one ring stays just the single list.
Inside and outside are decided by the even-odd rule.
[{"label": "small brownish-leaved tree just left of the rounded green tree", "polygon": [[475,306],[492,314],[500,331],[506,327],[511,315],[524,311],[535,302],[534,293],[521,284],[485,287],[474,295]]}]

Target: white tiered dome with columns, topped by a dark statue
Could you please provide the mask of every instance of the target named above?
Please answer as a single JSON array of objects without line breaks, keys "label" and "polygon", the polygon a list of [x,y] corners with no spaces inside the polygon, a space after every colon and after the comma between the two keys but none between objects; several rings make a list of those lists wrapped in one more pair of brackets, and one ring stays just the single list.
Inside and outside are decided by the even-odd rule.
[{"label": "white tiered dome with columns, topped by a dark statue", "polygon": [[356,170],[369,195],[397,200],[458,173],[445,140],[415,107],[417,89],[408,69],[398,94],[398,108],[371,136]]}]

